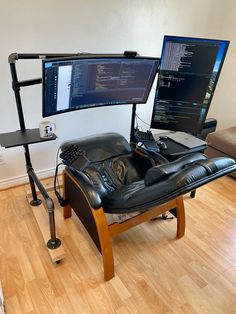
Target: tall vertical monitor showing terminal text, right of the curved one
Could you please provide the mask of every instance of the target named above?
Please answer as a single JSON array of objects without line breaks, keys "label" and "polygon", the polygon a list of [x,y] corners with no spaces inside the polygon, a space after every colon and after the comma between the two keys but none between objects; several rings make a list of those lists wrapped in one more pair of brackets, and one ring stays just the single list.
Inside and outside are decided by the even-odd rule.
[{"label": "tall vertical monitor showing terminal text, right of the curved one", "polygon": [[165,36],[151,128],[201,132],[229,41]]}]

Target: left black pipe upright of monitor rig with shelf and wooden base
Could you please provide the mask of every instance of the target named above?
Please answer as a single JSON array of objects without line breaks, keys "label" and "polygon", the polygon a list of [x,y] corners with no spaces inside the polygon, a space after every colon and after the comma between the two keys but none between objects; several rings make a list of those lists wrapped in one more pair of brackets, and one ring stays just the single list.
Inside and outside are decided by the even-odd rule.
[{"label": "left black pipe upright of monitor rig with shelf and wooden base", "polygon": [[[21,101],[20,89],[21,87],[32,86],[42,83],[42,78],[29,79],[19,81],[16,71],[16,61],[19,59],[42,59],[42,58],[59,58],[74,56],[75,54],[18,54],[12,53],[8,57],[10,64],[11,76],[12,76],[12,89],[15,94],[17,113],[19,118],[20,130],[9,133],[0,134],[0,145],[5,148],[11,148],[16,146],[22,146],[24,148],[26,171],[29,178],[31,192],[27,193],[30,197],[30,205],[33,214],[38,223],[39,229],[43,235],[45,243],[48,248],[49,255],[53,262],[59,263],[65,256],[65,251],[61,245],[60,239],[56,237],[55,215],[54,215],[54,203],[47,193],[43,184],[36,175],[30,156],[29,145],[34,143],[45,142],[45,139],[40,138],[39,129],[27,129],[25,126],[24,112]],[[48,140],[55,140],[56,135],[53,135]],[[38,188],[38,191],[36,190]],[[45,208],[48,210],[48,217],[45,215],[45,208],[42,201],[38,198],[39,192],[44,199]],[[49,230],[48,230],[49,226]]]}]

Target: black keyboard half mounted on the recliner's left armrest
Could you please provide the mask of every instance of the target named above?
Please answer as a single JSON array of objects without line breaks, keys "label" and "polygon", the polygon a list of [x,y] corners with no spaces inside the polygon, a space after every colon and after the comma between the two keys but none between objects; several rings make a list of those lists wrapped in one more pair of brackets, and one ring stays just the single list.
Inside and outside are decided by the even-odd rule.
[{"label": "black keyboard half mounted on the recliner's left armrest", "polygon": [[77,145],[68,145],[60,154],[63,163],[75,170],[83,170],[88,164],[89,160],[85,156],[85,152]]}]

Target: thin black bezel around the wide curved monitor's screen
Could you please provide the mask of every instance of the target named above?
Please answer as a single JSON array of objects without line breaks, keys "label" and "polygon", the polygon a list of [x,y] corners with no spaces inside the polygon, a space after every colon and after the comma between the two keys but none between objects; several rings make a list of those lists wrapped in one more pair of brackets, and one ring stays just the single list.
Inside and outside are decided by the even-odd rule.
[{"label": "thin black bezel around the wide curved monitor's screen", "polygon": [[[145,101],[137,101],[137,102],[119,102],[119,103],[105,103],[105,104],[97,104],[94,106],[88,105],[88,106],[83,106],[83,107],[73,107],[73,108],[67,108],[65,110],[60,110],[57,112],[53,112],[51,114],[48,114],[45,112],[45,64],[49,62],[60,62],[60,61],[74,61],[74,60],[86,60],[86,59],[124,59],[124,60],[153,60],[157,62],[156,64],[156,70],[153,75],[153,78],[150,82],[150,86],[148,87],[145,95]],[[42,60],[42,116],[43,118],[47,118],[50,116],[55,116],[55,115],[60,115],[62,113],[69,113],[73,111],[79,111],[79,110],[86,110],[86,109],[93,109],[93,108],[100,108],[100,107],[111,107],[111,106],[119,106],[119,105],[132,105],[132,104],[144,104],[147,102],[151,88],[153,86],[153,82],[155,80],[155,77],[159,71],[159,66],[160,66],[160,58],[157,57],[147,57],[147,56],[140,56],[137,55],[135,57],[129,57],[124,54],[80,54],[80,55],[75,55],[75,56],[70,56],[70,57],[60,57],[60,58],[47,58]]]}]

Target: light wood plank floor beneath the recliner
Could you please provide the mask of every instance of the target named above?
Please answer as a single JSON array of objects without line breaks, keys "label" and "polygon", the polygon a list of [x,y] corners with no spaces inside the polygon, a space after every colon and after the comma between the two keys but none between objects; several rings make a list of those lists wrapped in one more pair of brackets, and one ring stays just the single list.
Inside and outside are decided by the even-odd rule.
[{"label": "light wood plank floor beneath the recliner", "polygon": [[[66,251],[53,264],[25,190],[0,192],[0,279],[7,313],[236,313],[236,180],[185,196],[186,235],[176,220],[146,222],[113,241],[116,276],[77,217],[57,231]],[[56,203],[56,202],[55,202]]]}]

